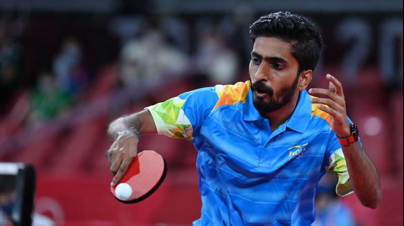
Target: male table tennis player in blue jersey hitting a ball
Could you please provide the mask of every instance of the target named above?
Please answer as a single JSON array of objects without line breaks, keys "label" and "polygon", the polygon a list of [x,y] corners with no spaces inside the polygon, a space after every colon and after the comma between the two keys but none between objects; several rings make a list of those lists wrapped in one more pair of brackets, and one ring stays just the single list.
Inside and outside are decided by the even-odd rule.
[{"label": "male table tennis player in blue jersey hitting a ball", "polygon": [[193,225],[310,225],[326,171],[338,174],[338,195],[355,192],[376,208],[378,172],[346,116],[341,83],[326,75],[328,89],[306,90],[323,47],[318,28],[272,13],[250,26],[250,38],[249,81],[186,92],[110,124],[112,184],[139,135],[157,132],[198,151],[202,207]]}]

